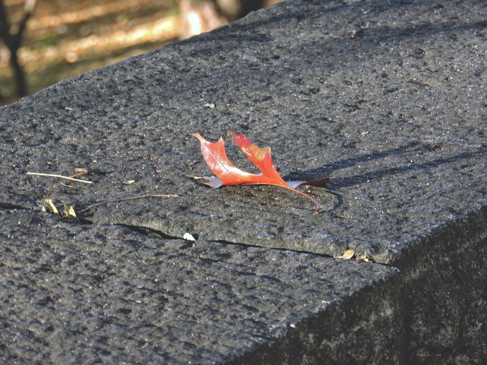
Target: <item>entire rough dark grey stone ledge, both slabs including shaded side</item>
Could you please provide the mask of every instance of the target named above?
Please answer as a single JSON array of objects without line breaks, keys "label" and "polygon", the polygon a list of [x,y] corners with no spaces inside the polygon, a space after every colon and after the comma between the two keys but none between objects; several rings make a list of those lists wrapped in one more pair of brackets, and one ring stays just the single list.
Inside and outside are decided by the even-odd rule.
[{"label": "entire rough dark grey stone ledge, both slabs including shaded side", "polygon": [[[487,361],[486,11],[284,2],[0,109],[6,359]],[[304,188],[320,213],[188,178],[210,174],[189,133],[228,128],[271,146],[285,177],[333,176]],[[74,167],[94,184],[26,175]],[[100,205],[79,214],[91,225],[39,212],[143,194],[179,198]],[[347,249],[375,264],[322,256]]]}]

